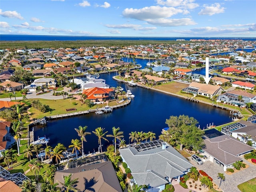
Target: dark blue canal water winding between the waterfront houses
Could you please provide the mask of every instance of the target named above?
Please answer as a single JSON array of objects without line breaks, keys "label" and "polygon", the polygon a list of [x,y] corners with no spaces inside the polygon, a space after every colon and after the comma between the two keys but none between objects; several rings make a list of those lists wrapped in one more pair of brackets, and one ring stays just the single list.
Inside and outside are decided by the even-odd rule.
[{"label": "dark blue canal water winding between the waterfront houses", "polygon": [[[144,61],[144,64],[142,64]],[[146,60],[138,60],[137,63],[146,66]],[[130,132],[154,132],[156,139],[161,134],[162,128],[167,127],[166,119],[170,116],[188,115],[198,120],[200,128],[204,129],[210,124],[216,126],[232,121],[229,111],[215,108],[210,105],[191,102],[183,98],[171,96],[161,92],[144,89],[140,87],[128,87],[127,84],[117,82],[112,79],[115,73],[101,74],[100,78],[106,80],[110,87],[122,86],[124,90],[130,89],[135,98],[124,107],[113,110],[108,114],[87,114],[71,118],[62,118],[48,121],[46,127],[34,127],[35,138],[46,136],[50,138],[49,145],[54,147],[58,143],[68,147],[72,139],[78,137],[74,128],[78,126],[88,126],[87,131],[92,132],[98,127],[105,128],[107,134],[112,134],[112,127],[120,127],[124,132],[124,140],[129,144]],[[60,102],[63,102],[60,101]],[[106,150],[108,144],[112,144],[111,137],[106,137],[109,142],[102,140],[103,149]],[[98,151],[98,137],[93,133],[86,136],[87,142],[84,143],[84,152]]]}]

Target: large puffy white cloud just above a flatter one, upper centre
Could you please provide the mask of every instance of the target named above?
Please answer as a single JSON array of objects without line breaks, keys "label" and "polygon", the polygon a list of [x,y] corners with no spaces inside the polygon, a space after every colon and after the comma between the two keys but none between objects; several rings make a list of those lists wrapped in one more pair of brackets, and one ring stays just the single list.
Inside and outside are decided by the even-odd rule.
[{"label": "large puffy white cloud just above a flatter one, upper centre", "polygon": [[160,6],[150,6],[144,7],[142,9],[126,8],[122,14],[127,18],[134,18],[137,20],[148,20],[148,19],[158,19],[158,18],[168,18],[178,13],[183,13],[181,9],[176,9],[173,7],[160,7]]}]

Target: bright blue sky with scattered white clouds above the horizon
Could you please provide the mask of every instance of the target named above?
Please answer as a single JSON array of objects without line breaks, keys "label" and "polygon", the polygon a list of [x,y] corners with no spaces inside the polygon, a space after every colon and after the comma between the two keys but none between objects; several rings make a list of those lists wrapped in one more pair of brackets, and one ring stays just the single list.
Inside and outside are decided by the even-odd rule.
[{"label": "bright blue sky with scattered white clouds above the horizon", "polygon": [[256,37],[256,0],[1,0],[0,34]]}]

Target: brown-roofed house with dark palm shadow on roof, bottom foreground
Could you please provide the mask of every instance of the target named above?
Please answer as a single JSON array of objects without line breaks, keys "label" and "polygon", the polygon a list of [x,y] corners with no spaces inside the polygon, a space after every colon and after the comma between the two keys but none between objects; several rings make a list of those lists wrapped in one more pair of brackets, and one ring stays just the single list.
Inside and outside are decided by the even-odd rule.
[{"label": "brown-roofed house with dark palm shadow on roof, bottom foreground", "polygon": [[60,182],[63,182],[62,176],[68,176],[70,174],[72,174],[72,179],[78,178],[76,188],[79,191],[122,192],[122,188],[110,161],[57,171],[54,176],[54,183],[58,183],[58,187],[61,187]]}]

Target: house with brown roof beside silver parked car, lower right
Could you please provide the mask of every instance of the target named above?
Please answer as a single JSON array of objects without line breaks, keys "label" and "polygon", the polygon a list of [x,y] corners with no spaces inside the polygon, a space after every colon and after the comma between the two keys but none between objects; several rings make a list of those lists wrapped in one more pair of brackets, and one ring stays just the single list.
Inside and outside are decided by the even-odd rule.
[{"label": "house with brown roof beside silver parked car, lower right", "polygon": [[204,138],[205,148],[203,149],[207,156],[210,156],[211,162],[216,162],[223,166],[223,170],[233,168],[232,164],[241,161],[242,154],[252,151],[254,148],[237,140],[229,135],[221,135],[214,138]]}]

